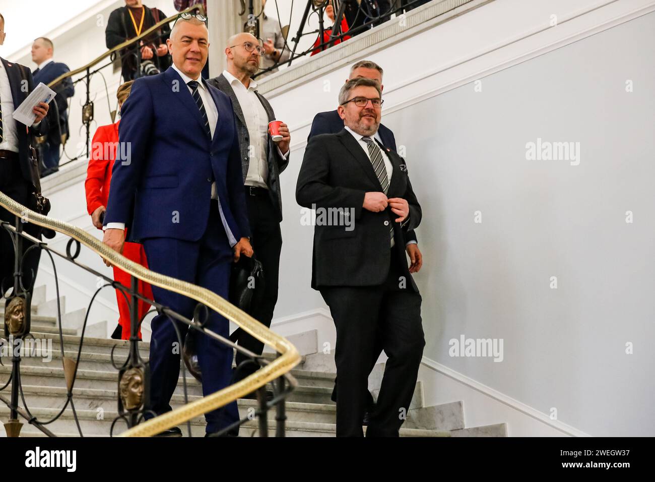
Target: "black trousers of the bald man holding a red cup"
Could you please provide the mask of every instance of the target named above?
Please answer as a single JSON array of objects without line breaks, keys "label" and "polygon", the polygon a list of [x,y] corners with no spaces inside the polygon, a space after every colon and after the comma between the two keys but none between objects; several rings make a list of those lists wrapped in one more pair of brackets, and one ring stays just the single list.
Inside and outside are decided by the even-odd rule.
[{"label": "black trousers of the bald man holding a red cup", "polygon": [[[260,298],[261,302],[257,306],[253,306],[250,315],[259,323],[271,327],[273,311],[278,302],[282,231],[280,231],[280,223],[267,190],[263,188],[250,189],[249,186],[246,186],[246,205],[250,222],[250,244],[255,252],[255,258],[261,262],[265,282],[264,292]],[[237,330],[236,339],[239,346],[261,355],[264,344],[242,329]],[[237,366],[246,359],[245,355],[237,351],[235,359]],[[238,378],[245,378],[256,370],[257,367],[254,365],[247,365],[239,371]]]}]

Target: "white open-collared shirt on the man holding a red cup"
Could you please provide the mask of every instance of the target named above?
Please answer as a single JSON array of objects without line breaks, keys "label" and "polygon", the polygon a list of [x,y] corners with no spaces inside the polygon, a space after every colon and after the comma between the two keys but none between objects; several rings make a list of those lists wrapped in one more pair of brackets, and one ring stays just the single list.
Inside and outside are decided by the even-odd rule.
[{"label": "white open-collared shirt on the man holding a red cup", "polygon": [[[238,100],[244,114],[248,136],[250,137],[250,146],[252,146],[248,150],[250,161],[248,162],[248,172],[246,172],[246,182],[244,184],[268,189],[269,186],[267,186],[266,180],[269,178],[269,164],[267,161],[269,115],[266,113],[257,94],[255,94],[257,83],[250,79],[250,84],[246,88],[239,79],[227,70],[223,70],[223,76],[234,90],[236,100]],[[283,154],[279,147],[277,149],[278,153],[286,159],[286,154]]]}]

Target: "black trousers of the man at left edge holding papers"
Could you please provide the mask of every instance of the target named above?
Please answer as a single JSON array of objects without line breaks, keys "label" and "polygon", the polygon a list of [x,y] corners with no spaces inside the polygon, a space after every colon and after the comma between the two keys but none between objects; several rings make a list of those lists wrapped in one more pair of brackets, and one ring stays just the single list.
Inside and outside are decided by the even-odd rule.
[{"label": "black trousers of the man at left edge holding papers", "polygon": [[[24,206],[29,205],[29,200],[34,191],[30,182],[23,178],[20,170],[20,163],[16,159],[0,159],[0,191],[9,196],[11,199]],[[0,220],[11,223],[16,226],[16,216],[11,214],[7,209],[0,208]],[[33,224],[24,223],[23,229],[26,233],[41,239],[41,228]],[[33,245],[30,241],[21,237],[22,249],[20,256]],[[2,283],[2,293],[5,294],[7,289],[14,286],[14,243],[9,231],[0,228],[0,281]],[[23,285],[30,294],[34,288],[37,269],[39,268],[39,259],[41,258],[40,249],[32,249],[23,259],[22,277]]]}]

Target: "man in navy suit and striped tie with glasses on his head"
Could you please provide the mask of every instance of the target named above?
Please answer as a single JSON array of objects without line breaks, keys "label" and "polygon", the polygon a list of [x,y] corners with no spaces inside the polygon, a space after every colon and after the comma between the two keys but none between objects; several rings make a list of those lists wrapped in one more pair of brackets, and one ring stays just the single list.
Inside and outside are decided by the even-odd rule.
[{"label": "man in navy suit and striped tie with glasses on his head", "polygon": [[[228,297],[233,260],[252,256],[238,137],[230,98],[200,73],[208,56],[206,24],[178,18],[168,40],[174,65],[136,79],[121,110],[103,242],[121,251],[143,243],[149,268]],[[155,99],[157,102],[155,102]],[[196,302],[153,286],[155,301],[191,319]],[[179,377],[178,336],[166,315],[152,323],[151,411],[171,410]],[[184,340],[188,326],[175,322]],[[229,337],[227,319],[210,313],[206,327]],[[233,350],[197,338],[202,393],[229,385]],[[149,414],[146,418],[151,417]],[[205,415],[207,433],[238,420],[236,402]],[[230,435],[238,434],[238,428]],[[181,435],[173,428],[161,435]]]}]

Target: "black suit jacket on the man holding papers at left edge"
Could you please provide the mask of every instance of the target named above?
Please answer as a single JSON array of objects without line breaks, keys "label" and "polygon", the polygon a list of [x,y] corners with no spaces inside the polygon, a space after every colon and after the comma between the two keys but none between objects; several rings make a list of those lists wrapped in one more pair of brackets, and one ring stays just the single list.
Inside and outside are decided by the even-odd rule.
[{"label": "black suit jacket on the man holding papers at left edge", "polygon": [[[34,90],[32,73],[26,66],[7,62],[7,60],[1,57],[0,61],[2,61],[5,70],[7,70],[7,77],[9,77],[9,85],[11,87],[11,96],[14,100],[14,110],[16,110],[18,109],[18,106],[28,98],[29,92]],[[21,89],[23,79],[28,81],[28,92],[24,92],[24,90]],[[16,122],[16,131],[18,132],[18,157],[20,159],[20,171],[23,174],[23,178],[32,184],[33,180],[29,166],[29,145],[33,142],[31,140],[32,136],[43,136],[47,134],[48,117],[43,119],[38,127],[28,128],[24,124]]]}]

